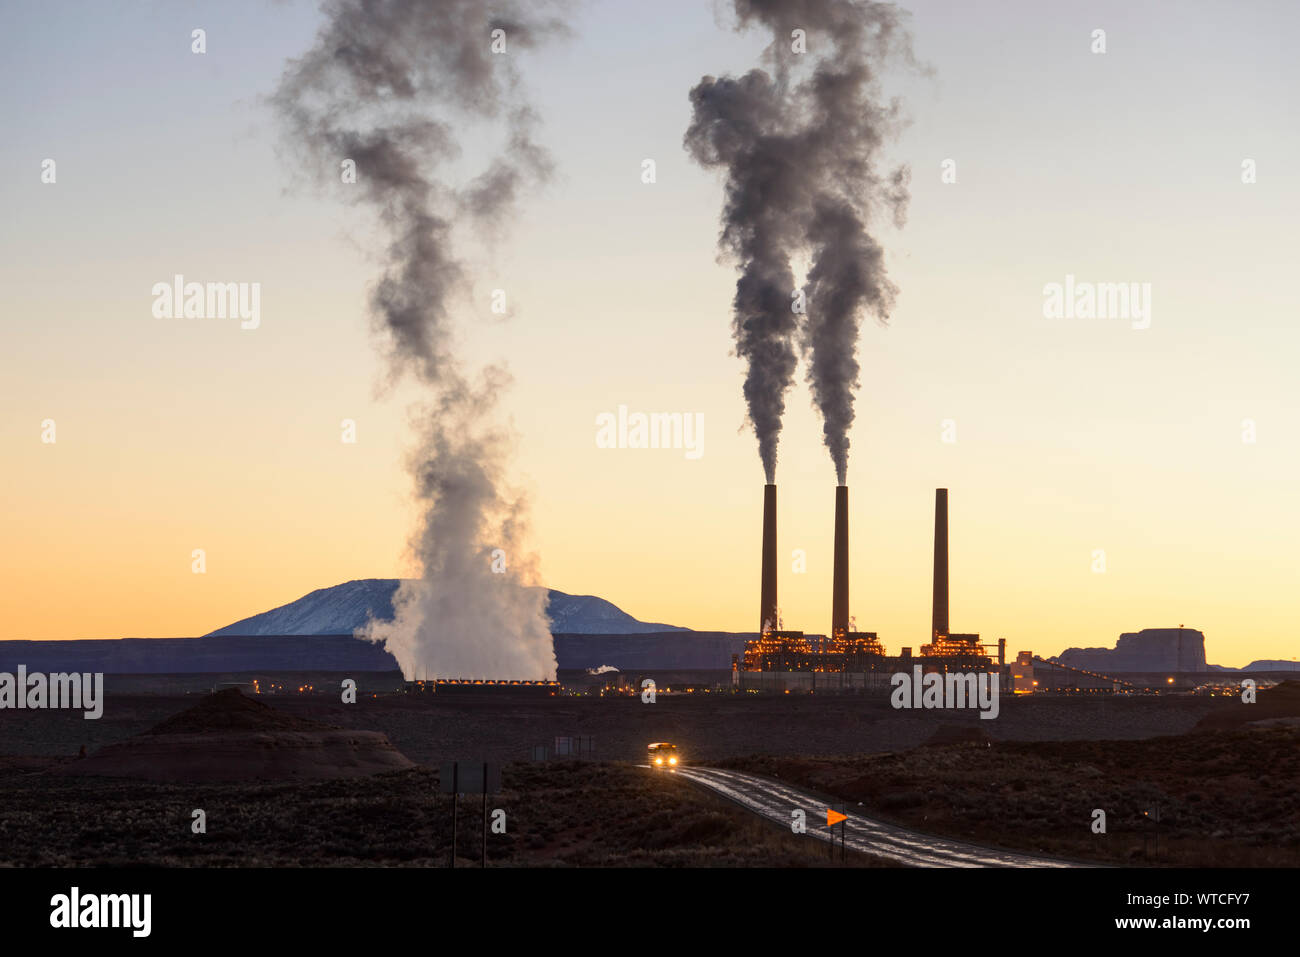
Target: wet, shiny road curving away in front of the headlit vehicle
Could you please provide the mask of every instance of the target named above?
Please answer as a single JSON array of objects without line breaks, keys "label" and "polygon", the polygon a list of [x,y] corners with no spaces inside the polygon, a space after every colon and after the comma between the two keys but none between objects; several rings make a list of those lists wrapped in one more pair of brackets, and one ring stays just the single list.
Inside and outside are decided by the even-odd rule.
[{"label": "wet, shiny road curving away in front of the headlit vehicle", "polygon": [[[676,774],[715,791],[755,814],[789,827],[790,813],[800,809],[807,819],[807,833],[818,840],[831,840],[826,826],[827,804],[805,791],[771,778],[714,767],[679,767]],[[1088,865],[1048,857],[1017,854],[1010,850],[982,848],[975,844],[935,837],[894,824],[838,809],[849,815],[844,844],[864,854],[887,858],[913,867],[1087,867]],[[836,827],[838,839],[838,827]]]}]

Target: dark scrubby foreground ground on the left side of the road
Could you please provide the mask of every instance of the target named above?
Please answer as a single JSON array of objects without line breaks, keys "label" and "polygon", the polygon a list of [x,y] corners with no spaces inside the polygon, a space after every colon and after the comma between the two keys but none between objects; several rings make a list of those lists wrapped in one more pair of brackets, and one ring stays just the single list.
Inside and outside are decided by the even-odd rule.
[{"label": "dark scrubby foreground ground on the left side of the road", "polygon": [[[413,768],[277,784],[150,784],[52,778],[0,761],[0,866],[447,867],[451,797]],[[511,765],[489,814],[489,866],[824,867],[827,845],[767,824],[667,772],[555,761]],[[194,833],[195,809],[205,833]],[[482,798],[458,817],[458,867],[477,867]],[[876,866],[850,854],[849,866]],[[841,866],[835,863],[835,866]]]}]

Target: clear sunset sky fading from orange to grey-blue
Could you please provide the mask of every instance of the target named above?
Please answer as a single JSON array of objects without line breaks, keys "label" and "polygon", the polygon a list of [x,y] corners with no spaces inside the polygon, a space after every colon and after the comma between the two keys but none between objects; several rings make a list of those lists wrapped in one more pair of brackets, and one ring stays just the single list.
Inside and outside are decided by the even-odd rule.
[{"label": "clear sunset sky fading from orange to grey-blue", "polygon": [[[930,70],[884,77],[911,203],[876,233],[900,294],[859,345],[857,627],[890,653],[927,638],[948,488],[954,631],[1056,654],[1186,624],[1214,663],[1295,658],[1300,10],[902,7]],[[367,315],[382,233],[308,185],[266,103],[320,22],[312,3],[0,8],[0,638],[202,635],[417,571],[420,394],[385,386]],[[556,174],[503,242],[458,250],[458,348],[512,373],[511,482],[543,584],[754,631],[763,472],[736,274],[722,181],[682,134],[690,87],[767,38],[710,0],[589,0],[568,26],[519,61]],[[464,169],[491,146],[469,137]],[[259,282],[260,324],[156,317],[177,273]],[[1067,276],[1149,283],[1149,326],[1046,317]],[[702,454],[598,447],[620,406],[702,416]],[[824,633],[835,471],[802,365],[777,485],[784,623]]]}]

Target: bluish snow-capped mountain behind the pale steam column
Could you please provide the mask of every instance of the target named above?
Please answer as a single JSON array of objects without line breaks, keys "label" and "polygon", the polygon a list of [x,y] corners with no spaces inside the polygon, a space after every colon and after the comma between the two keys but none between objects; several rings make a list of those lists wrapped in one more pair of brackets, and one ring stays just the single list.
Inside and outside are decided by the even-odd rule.
[{"label": "bluish snow-capped mountain behind the pale steam column", "polygon": [[[204,637],[228,635],[351,635],[370,618],[393,618],[398,579],[358,579],[318,588],[298,601],[246,618]],[[594,596],[549,590],[547,615],[556,635],[645,635],[689,631],[671,624],[638,622],[612,602]]]}]

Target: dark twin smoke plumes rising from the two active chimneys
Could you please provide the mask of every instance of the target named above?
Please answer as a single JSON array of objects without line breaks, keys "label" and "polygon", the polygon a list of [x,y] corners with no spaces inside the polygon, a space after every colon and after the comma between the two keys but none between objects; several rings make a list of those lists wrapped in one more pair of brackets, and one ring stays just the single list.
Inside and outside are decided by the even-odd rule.
[{"label": "dark twin smoke plumes rising from the two active chimneys", "polygon": [[[685,143],[702,165],[727,173],[720,244],[741,273],[736,351],[748,363],[745,399],[767,480],[797,342],[842,485],[861,385],[858,326],[863,313],[885,321],[897,294],[870,225],[888,212],[901,226],[906,215],[907,170],[878,170],[880,147],[901,121],[876,82],[896,55],[913,62],[906,14],[859,0],[734,0],[734,9],[737,29],[771,31],[772,75],[705,77],[690,91]],[[806,52],[793,52],[794,30]],[[797,254],[811,260],[802,325],[790,302]]]}]

